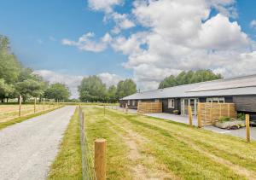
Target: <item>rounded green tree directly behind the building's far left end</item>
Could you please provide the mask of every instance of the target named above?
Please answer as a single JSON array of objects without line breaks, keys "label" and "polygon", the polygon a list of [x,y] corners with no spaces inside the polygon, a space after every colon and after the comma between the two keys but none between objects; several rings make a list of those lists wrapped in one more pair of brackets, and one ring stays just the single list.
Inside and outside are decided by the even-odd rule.
[{"label": "rounded green tree directly behind the building's far left end", "polygon": [[125,96],[130,96],[137,92],[137,85],[131,78],[125,79],[125,81],[119,81],[117,85],[116,96],[118,99]]}]

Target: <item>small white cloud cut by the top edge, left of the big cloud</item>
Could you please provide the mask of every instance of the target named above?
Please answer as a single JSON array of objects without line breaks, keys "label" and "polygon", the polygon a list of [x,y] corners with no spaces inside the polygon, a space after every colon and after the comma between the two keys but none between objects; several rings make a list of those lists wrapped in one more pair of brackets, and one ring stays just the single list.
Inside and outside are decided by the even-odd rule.
[{"label": "small white cloud cut by the top edge, left of the big cloud", "polygon": [[104,11],[105,13],[111,13],[113,6],[120,5],[123,0],[88,0],[88,6],[90,9],[97,11]]}]

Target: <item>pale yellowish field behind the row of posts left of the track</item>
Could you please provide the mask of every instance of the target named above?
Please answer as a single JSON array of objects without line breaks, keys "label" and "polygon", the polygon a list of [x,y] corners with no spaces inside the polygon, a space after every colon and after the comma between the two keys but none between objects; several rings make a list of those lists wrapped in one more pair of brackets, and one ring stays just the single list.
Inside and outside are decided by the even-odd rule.
[{"label": "pale yellowish field behind the row of posts left of the track", "polygon": [[[55,107],[57,107],[55,105]],[[49,110],[54,108],[53,105],[37,105],[36,113],[43,112],[44,110]],[[21,116],[27,116],[34,113],[34,105],[26,104],[21,106]],[[19,105],[0,105],[0,122],[7,122],[11,119],[16,119],[19,117]]]}]

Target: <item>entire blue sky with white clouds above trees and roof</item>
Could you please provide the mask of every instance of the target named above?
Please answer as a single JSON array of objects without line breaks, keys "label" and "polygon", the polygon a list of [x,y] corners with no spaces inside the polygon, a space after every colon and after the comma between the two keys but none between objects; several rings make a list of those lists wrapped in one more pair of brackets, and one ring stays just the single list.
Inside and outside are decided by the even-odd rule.
[{"label": "entire blue sky with white clouds above trees and roof", "polygon": [[256,71],[254,0],[0,0],[0,34],[50,83],[83,77],[152,90],[181,71]]}]

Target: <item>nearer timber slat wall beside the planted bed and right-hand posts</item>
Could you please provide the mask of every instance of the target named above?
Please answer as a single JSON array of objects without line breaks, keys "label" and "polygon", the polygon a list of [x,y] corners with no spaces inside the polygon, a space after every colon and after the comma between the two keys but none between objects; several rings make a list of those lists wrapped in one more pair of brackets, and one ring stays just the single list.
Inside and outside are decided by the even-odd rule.
[{"label": "nearer timber slat wall beside the planted bed and right-hand posts", "polygon": [[203,125],[214,125],[220,117],[237,118],[236,106],[234,103],[200,103],[198,115],[201,116]]}]

